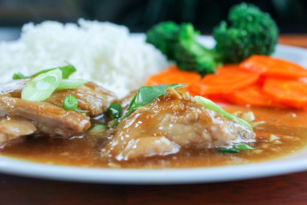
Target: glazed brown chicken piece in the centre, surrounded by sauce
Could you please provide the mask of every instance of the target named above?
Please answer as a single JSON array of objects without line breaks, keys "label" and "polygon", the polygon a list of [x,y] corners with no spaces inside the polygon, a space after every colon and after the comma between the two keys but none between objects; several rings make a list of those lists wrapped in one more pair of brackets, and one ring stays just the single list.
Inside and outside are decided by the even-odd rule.
[{"label": "glazed brown chicken piece in the centre, surrounded by sauce", "polygon": [[165,156],[181,148],[210,149],[254,141],[255,133],[196,104],[173,88],[136,109],[117,126],[102,149],[103,157],[134,160]]}]

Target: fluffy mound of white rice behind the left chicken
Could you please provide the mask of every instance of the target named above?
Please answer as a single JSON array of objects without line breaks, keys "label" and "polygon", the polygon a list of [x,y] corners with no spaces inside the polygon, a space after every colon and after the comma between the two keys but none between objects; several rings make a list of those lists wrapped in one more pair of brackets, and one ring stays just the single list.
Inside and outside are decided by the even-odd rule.
[{"label": "fluffy mound of white rice behind the left chicken", "polygon": [[168,65],[159,50],[131,37],[125,26],[84,19],[78,24],[28,23],[17,42],[1,42],[1,82],[16,72],[31,75],[67,61],[77,69],[70,78],[99,82],[123,97]]}]

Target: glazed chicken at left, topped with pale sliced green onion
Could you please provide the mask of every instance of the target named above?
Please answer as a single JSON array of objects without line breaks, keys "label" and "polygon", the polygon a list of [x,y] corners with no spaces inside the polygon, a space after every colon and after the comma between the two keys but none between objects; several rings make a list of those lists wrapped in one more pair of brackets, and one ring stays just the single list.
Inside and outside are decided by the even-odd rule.
[{"label": "glazed chicken at left, topped with pale sliced green onion", "polygon": [[39,132],[63,138],[85,132],[91,126],[89,117],[62,108],[62,101],[69,94],[78,99],[79,109],[89,111],[89,116],[105,112],[108,104],[116,101],[114,94],[91,82],[77,89],[54,91],[45,101],[22,100],[21,90],[28,81],[14,80],[0,85],[0,144]]}]

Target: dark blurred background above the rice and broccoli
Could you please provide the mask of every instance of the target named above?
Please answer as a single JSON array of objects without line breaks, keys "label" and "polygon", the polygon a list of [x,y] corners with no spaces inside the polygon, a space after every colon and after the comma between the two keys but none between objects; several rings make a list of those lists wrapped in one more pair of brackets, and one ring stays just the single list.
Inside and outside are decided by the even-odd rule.
[{"label": "dark blurred background above the rice and broccoli", "polygon": [[[192,22],[202,34],[227,18],[228,9],[241,0],[0,0],[0,39],[17,38],[27,22],[76,22],[78,18],[110,21],[131,32],[146,32],[164,20]],[[245,1],[269,12],[280,32],[307,33],[306,0]],[[2,36],[1,36],[2,35]]]}]

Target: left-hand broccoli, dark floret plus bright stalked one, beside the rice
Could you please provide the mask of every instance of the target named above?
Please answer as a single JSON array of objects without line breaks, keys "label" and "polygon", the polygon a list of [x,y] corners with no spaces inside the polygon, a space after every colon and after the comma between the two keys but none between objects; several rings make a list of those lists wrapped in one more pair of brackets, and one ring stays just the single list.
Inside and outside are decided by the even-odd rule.
[{"label": "left-hand broccoli, dark floret plus bright stalked one, beside the rice", "polygon": [[202,75],[214,73],[217,56],[196,42],[199,32],[190,23],[177,25],[161,22],[147,31],[146,42],[153,44],[168,59],[177,62],[181,70],[190,70]]}]

